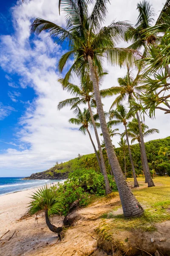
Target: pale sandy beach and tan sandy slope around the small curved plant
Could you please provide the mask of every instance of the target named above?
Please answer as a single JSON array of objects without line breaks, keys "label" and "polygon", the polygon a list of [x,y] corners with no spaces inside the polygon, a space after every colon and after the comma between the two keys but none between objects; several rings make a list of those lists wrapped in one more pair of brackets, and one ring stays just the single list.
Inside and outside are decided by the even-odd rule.
[{"label": "pale sandy beach and tan sandy slope around the small curved plant", "polygon": [[[32,216],[20,220],[27,211],[26,207],[30,201],[28,197],[35,190],[0,196],[0,256],[78,256],[82,254],[82,250],[94,251],[96,239],[87,235],[87,232],[94,233],[100,221],[90,220],[90,217],[94,218],[94,209],[96,214],[103,212],[103,206],[100,207],[99,204],[80,209],[82,219],[77,226],[79,228],[67,230],[64,241],[58,241],[57,234],[48,229],[43,213],[37,215],[37,219]],[[108,209],[110,206],[107,206]],[[51,221],[61,227],[63,218],[56,215]]]}]

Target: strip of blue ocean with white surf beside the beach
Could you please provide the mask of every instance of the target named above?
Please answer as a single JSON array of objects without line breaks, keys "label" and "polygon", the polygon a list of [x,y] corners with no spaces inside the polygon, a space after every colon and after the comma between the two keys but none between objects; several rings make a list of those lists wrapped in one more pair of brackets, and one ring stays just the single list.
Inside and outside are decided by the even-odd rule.
[{"label": "strip of blue ocean with white surf beside the beach", "polygon": [[45,183],[61,180],[22,180],[24,177],[0,177],[0,195],[5,195],[26,189],[37,188]]}]

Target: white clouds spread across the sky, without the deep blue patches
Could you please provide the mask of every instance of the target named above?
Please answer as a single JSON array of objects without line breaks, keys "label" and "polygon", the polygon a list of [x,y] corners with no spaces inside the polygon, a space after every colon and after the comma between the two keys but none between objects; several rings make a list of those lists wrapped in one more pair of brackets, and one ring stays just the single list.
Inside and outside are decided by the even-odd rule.
[{"label": "white clouds spread across the sky, without the deep blue patches", "polygon": [[[135,23],[138,16],[136,3],[136,0],[130,0],[126,4],[124,0],[111,1],[111,6],[108,6],[107,23],[109,24],[116,17],[116,20],[131,20]],[[156,12],[161,10],[161,3],[156,0],[153,0],[153,3]],[[58,102],[70,97],[57,82],[59,74],[56,67],[63,50],[45,33],[36,39],[30,37],[29,26],[36,17],[51,20],[61,26],[65,23],[63,14],[60,16],[58,14],[56,0],[51,0],[50,4],[48,0],[25,0],[23,4],[18,1],[12,8],[14,33],[0,37],[0,65],[8,73],[6,78],[11,82],[10,75],[17,74],[21,77],[20,86],[22,88],[31,86],[37,94],[33,102],[28,102],[18,124],[17,141],[12,142],[19,145],[20,149],[8,148],[0,154],[0,169],[8,170],[9,175],[13,171],[14,175],[28,175],[50,168],[56,161],[76,157],[78,153],[93,152],[88,135],[83,136],[79,131],[71,129],[75,127],[74,125],[68,124],[68,119],[73,116],[69,108],[57,111]],[[117,78],[126,73],[119,67],[107,67],[107,69],[109,75],[106,76],[103,84],[105,88],[117,84]],[[15,93],[16,91],[12,92],[12,98],[10,92],[13,101],[20,96]],[[106,111],[109,110],[112,102],[113,99],[104,100]],[[166,125],[169,125],[167,116],[164,117],[162,113],[156,121],[147,120],[147,124],[151,128],[160,128],[163,131],[160,135],[153,135],[148,139],[169,135],[166,128]],[[120,127],[120,131],[122,130],[123,128]],[[114,145],[118,141],[119,137],[113,138]]]}]

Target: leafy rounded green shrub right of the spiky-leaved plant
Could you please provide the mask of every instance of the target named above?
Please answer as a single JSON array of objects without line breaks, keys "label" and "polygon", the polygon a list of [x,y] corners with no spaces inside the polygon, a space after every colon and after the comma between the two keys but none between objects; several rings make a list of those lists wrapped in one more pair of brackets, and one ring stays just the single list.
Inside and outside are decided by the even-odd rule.
[{"label": "leafy rounded green shrub right of the spiky-leaved plant", "polygon": [[[108,175],[108,179],[111,189],[117,191],[113,177]],[[70,173],[69,179],[64,184],[59,184],[58,188],[54,186],[52,189],[59,195],[63,195],[64,201],[61,213],[66,215],[75,200],[79,200],[80,206],[85,206],[90,194],[105,195],[105,182],[101,173],[92,169],[79,169]]]}]

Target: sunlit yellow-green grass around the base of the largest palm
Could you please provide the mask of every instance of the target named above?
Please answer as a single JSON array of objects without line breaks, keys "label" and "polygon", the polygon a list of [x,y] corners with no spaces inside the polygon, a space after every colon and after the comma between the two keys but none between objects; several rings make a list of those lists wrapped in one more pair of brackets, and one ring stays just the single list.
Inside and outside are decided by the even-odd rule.
[{"label": "sunlit yellow-green grass around the base of the largest palm", "polygon": [[[139,185],[144,185],[144,179],[137,178]],[[128,179],[132,182],[133,179]],[[133,189],[133,194],[144,206],[145,211],[141,217],[125,218],[122,214],[115,215],[116,206],[112,212],[101,216],[103,219],[102,227],[97,232],[106,239],[111,233],[117,231],[141,230],[143,232],[152,232],[156,230],[155,224],[170,220],[170,213],[167,209],[170,207],[170,177],[156,177],[154,179],[155,187]],[[141,184],[142,183],[142,184]],[[108,222],[108,219],[109,222]]]}]

